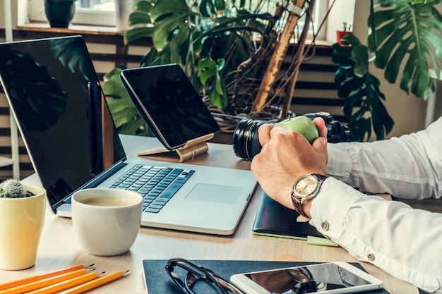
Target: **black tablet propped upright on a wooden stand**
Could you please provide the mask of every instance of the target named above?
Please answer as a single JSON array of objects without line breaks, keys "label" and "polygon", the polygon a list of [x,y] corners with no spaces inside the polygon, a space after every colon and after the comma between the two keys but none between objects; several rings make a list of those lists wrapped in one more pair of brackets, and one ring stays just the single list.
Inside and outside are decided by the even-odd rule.
[{"label": "black tablet propped upright on a wooden stand", "polygon": [[177,64],[121,71],[136,109],[152,133],[169,150],[220,131],[198,92]]}]

